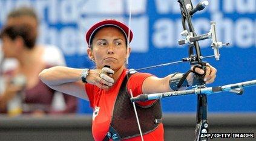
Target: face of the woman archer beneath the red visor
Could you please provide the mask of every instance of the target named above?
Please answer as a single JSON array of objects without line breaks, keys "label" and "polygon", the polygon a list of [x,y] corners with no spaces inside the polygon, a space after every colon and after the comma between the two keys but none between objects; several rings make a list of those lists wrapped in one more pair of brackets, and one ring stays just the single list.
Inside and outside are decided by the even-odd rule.
[{"label": "face of the woman archer beneath the red visor", "polygon": [[97,69],[108,65],[114,71],[125,67],[130,48],[126,51],[125,36],[115,27],[105,27],[97,31],[93,39],[93,49],[88,55],[96,63]]}]

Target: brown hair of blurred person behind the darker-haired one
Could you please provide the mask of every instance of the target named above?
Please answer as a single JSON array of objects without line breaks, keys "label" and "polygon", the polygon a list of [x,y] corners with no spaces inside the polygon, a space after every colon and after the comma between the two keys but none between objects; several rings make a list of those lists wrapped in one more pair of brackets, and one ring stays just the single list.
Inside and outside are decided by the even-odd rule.
[{"label": "brown hair of blurred person behind the darker-haired one", "polygon": [[33,8],[30,8],[30,7],[17,8],[15,10],[11,11],[8,14],[7,18],[10,19],[11,17],[22,17],[22,16],[33,17],[38,22],[38,16],[37,16],[36,12],[34,11]]}]

